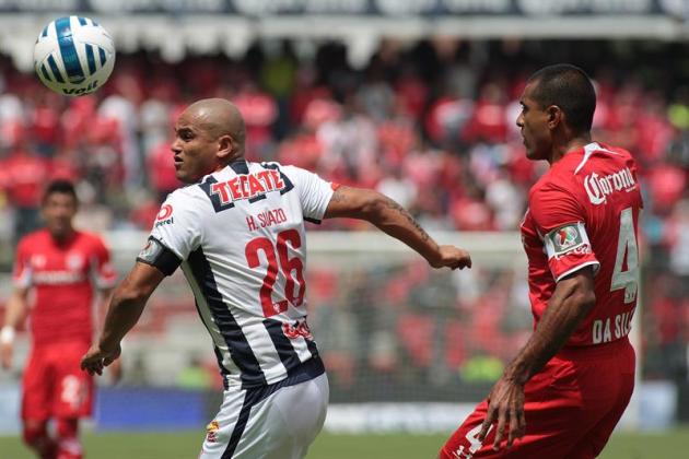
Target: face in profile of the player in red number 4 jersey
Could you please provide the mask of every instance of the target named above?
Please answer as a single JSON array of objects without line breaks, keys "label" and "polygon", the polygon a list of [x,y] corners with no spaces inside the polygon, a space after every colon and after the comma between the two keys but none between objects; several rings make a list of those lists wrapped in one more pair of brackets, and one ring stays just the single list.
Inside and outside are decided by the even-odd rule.
[{"label": "face in profile of the player in red number 4 jersey", "polygon": [[516,123],[522,130],[522,139],[529,160],[547,160],[550,156],[552,139],[548,129],[548,114],[530,97],[537,83],[529,83],[524,89],[519,104],[522,111]]}]

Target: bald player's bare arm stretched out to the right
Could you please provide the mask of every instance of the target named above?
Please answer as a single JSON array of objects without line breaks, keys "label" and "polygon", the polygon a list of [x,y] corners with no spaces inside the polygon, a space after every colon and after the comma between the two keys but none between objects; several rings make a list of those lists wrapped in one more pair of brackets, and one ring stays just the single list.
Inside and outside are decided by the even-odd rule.
[{"label": "bald player's bare arm stretched out to the right", "polygon": [[324,217],[338,216],[372,223],[414,249],[433,268],[471,268],[468,251],[455,246],[439,246],[407,210],[377,191],[338,187],[330,198]]}]

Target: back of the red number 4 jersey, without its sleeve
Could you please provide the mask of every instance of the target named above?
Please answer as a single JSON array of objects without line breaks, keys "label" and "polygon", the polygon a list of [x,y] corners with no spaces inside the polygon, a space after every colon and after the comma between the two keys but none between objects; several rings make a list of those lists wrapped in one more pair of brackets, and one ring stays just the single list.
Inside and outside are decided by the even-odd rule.
[{"label": "back of the red number 4 jersey, without its sleeve", "polygon": [[[637,166],[622,149],[596,142],[570,152],[553,165],[548,180],[569,189],[584,215],[585,234],[599,267],[596,305],[570,344],[599,344],[626,337],[637,306],[637,227],[642,198]],[[559,237],[563,245],[570,234]]]}]

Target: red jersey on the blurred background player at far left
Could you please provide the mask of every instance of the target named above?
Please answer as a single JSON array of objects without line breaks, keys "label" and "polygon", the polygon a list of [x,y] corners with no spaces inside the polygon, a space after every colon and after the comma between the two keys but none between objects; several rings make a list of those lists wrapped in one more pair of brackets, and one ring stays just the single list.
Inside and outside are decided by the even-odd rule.
[{"label": "red jersey on the blurred background player at far left", "polygon": [[40,229],[20,240],[13,280],[17,287],[34,289],[33,342],[49,345],[91,342],[93,285],[112,287],[116,274],[100,237],[75,232],[58,244],[47,229]]}]

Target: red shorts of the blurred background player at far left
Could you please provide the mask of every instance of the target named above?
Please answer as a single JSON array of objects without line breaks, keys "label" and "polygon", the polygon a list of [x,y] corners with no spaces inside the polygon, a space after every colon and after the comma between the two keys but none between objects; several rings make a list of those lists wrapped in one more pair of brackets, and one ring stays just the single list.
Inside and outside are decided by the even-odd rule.
[{"label": "red shorts of the blurred background player at far left", "polygon": [[89,343],[69,342],[34,348],[22,379],[22,419],[91,415],[93,377],[79,363]]}]

